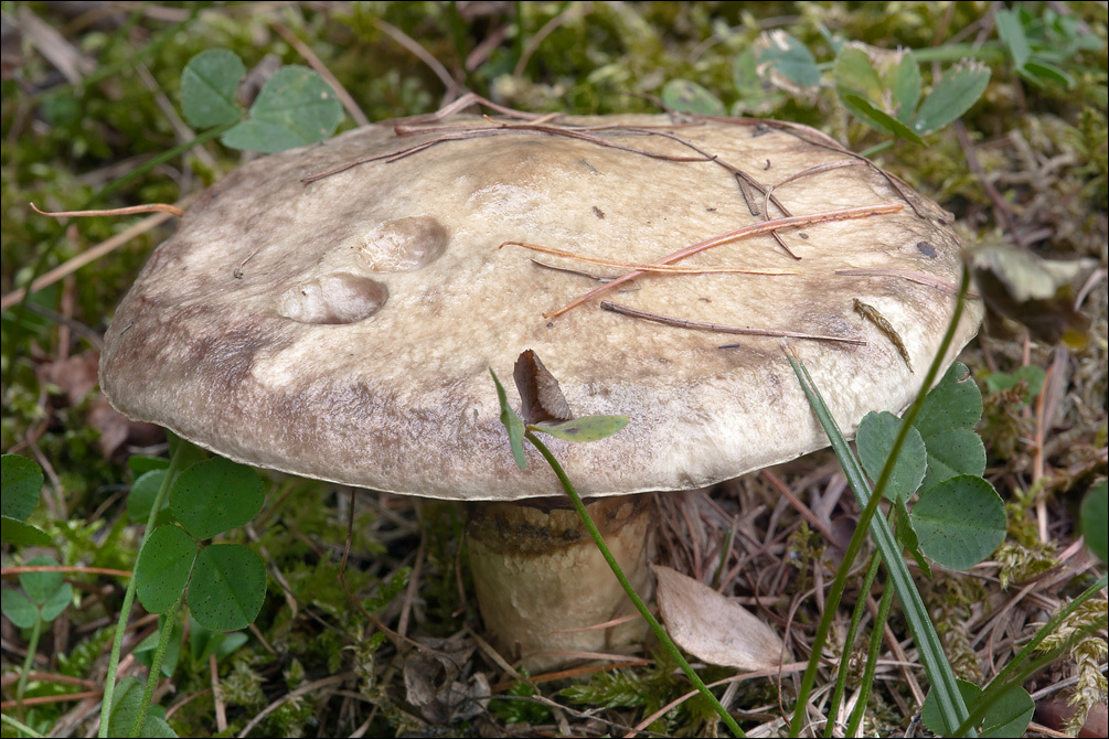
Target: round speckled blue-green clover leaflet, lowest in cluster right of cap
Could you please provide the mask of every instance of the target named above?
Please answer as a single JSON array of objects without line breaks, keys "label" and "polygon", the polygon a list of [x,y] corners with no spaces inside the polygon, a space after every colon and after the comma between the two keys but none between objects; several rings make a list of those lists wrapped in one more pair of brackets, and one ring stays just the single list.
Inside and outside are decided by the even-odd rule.
[{"label": "round speckled blue-green clover leaflet, lowest in cluster right of cap", "polygon": [[949,569],[973,567],[1005,541],[1001,496],[975,475],[957,475],[926,491],[910,517],[920,550]]}]

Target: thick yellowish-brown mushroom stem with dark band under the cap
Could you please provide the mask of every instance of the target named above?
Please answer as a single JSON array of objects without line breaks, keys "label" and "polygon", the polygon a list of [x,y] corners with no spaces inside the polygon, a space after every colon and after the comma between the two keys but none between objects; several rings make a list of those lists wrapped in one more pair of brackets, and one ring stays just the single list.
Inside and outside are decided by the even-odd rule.
[{"label": "thick yellowish-brown mushroom stem with dark band under the cap", "polygon": [[[629,612],[597,545],[564,499],[470,504],[467,534],[478,606],[494,643],[531,671],[582,653],[612,651],[647,633],[641,618],[590,628]],[[649,596],[654,499],[603,497],[587,503],[629,581]]]}]

